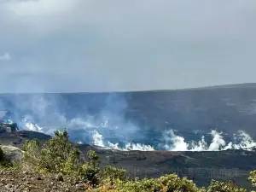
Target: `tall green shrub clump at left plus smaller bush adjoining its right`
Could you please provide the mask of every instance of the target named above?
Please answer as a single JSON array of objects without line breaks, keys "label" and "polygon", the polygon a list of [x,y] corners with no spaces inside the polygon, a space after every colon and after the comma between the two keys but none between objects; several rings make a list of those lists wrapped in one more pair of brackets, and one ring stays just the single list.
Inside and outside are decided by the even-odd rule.
[{"label": "tall green shrub clump at left plus smaller bush adjoining its right", "polygon": [[93,186],[100,183],[98,155],[95,151],[89,151],[88,162],[84,163],[79,149],[73,148],[68,141],[66,129],[63,132],[55,131],[55,137],[49,139],[41,150],[38,140],[26,141],[22,150],[22,164],[26,166],[26,170],[73,175]]}]

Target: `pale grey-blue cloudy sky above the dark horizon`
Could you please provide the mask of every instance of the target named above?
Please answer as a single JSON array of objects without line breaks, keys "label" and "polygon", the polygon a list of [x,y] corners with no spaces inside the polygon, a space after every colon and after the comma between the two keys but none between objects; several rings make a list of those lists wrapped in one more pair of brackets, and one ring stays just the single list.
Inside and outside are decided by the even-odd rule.
[{"label": "pale grey-blue cloudy sky above the dark horizon", "polygon": [[0,92],[256,82],[255,0],[0,0]]}]

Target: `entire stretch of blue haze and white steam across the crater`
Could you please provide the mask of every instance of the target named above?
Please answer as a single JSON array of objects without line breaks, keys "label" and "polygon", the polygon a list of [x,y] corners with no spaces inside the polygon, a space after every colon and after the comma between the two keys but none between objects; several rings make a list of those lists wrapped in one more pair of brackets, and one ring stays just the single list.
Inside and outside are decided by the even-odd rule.
[{"label": "entire stretch of blue haze and white steam across the crater", "polygon": [[[70,96],[72,97],[72,96]],[[7,99],[8,98],[8,99]],[[69,98],[71,99],[71,98]],[[70,107],[60,95],[30,95],[1,98],[0,107],[13,112],[6,122],[16,122],[20,129],[44,132],[53,135],[55,130],[67,128],[70,138],[76,143],[90,143],[101,148],[116,150],[169,150],[169,151],[219,151],[227,149],[250,149],[256,147],[253,138],[245,131],[238,131],[226,142],[222,132],[212,130],[212,141],[205,137],[198,141],[185,141],[171,129],[164,131],[157,146],[148,144],[141,127],[125,119],[127,103],[124,97],[108,95],[99,113],[86,108],[88,102],[79,100]],[[94,106],[94,104],[92,104]],[[195,133],[196,135],[196,133]],[[134,143],[134,139],[140,139]],[[158,138],[159,139],[159,138]],[[147,143],[147,144],[145,144]]]}]

